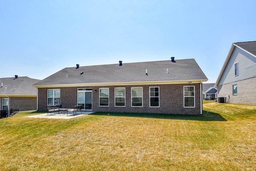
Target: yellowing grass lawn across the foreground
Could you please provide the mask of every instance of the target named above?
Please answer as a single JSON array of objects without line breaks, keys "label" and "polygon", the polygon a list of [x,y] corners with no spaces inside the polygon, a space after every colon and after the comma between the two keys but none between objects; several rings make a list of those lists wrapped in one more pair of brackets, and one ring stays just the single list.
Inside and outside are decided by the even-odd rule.
[{"label": "yellowing grass lawn across the foreground", "polygon": [[256,170],[256,106],[204,103],[203,115],[94,113],[0,119],[0,168]]}]

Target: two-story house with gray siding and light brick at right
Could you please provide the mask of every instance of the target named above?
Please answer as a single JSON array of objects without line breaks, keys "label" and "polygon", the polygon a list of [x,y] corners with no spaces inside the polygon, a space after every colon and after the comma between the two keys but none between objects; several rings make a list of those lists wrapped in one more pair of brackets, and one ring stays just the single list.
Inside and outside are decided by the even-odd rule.
[{"label": "two-story house with gray siding and light brick at right", "polygon": [[216,85],[218,98],[256,105],[256,41],[232,44]]}]

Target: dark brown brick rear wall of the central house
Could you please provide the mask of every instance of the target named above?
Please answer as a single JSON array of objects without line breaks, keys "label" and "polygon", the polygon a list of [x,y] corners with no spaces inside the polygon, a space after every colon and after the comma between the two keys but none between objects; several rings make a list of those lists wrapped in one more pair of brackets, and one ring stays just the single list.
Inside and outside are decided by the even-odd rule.
[{"label": "dark brown brick rear wall of the central house", "polygon": [[[195,86],[195,107],[184,108],[183,86],[186,84],[165,85],[126,85],[126,86],[93,86],[93,87],[54,87],[60,89],[60,103],[62,107],[70,108],[77,104],[77,89],[92,88],[92,110],[104,112],[131,112],[131,113],[173,113],[173,114],[200,114],[200,84]],[[191,86],[191,84],[188,84]],[[99,106],[99,88],[109,88],[109,107]],[[126,88],[126,106],[114,106],[114,88]],[[131,87],[143,87],[143,107],[131,107]],[[160,87],[160,107],[149,107],[149,87]],[[94,92],[96,90],[96,92]],[[47,88],[38,88],[38,110],[46,110]]]}]

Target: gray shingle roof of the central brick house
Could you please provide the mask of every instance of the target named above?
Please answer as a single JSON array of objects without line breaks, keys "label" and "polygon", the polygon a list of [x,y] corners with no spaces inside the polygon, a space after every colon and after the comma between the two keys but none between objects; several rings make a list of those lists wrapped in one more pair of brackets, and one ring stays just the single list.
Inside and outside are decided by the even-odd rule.
[{"label": "gray shingle roof of the central brick house", "polygon": [[[168,73],[167,72],[168,68]],[[148,76],[146,76],[146,70]],[[83,74],[80,75],[80,72]],[[66,78],[68,75],[68,78]],[[80,66],[64,68],[59,72],[34,84],[62,85],[62,84],[93,84],[93,83],[120,83],[120,82],[154,82],[179,80],[207,80],[194,59],[153,61]]]}]

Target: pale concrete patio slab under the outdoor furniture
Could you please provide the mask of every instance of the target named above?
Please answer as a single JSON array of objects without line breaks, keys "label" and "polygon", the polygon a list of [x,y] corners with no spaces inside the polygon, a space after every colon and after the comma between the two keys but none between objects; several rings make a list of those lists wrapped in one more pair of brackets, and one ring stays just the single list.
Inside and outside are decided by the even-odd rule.
[{"label": "pale concrete patio slab under the outdoor furniture", "polygon": [[55,114],[54,113],[49,113],[47,115],[47,113],[43,113],[43,114],[40,114],[40,115],[32,115],[32,116],[26,116],[26,117],[37,117],[37,118],[48,118],[48,119],[72,119],[72,118],[75,118],[75,117],[79,117],[79,116],[84,116],[84,115],[88,115],[88,114],[91,114],[93,112],[90,112],[90,111],[82,111],[82,114],[81,112],[78,112],[77,114],[73,115],[73,113],[68,113],[67,114],[63,114],[63,113],[60,113],[60,114]]}]

